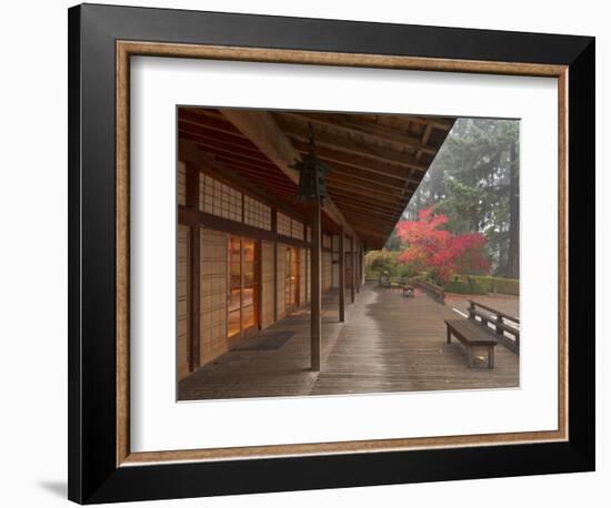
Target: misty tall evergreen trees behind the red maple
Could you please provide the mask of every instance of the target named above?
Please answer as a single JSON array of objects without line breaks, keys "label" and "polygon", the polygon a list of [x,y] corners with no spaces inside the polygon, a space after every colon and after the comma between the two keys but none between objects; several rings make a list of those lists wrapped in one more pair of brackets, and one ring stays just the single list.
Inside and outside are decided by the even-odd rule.
[{"label": "misty tall evergreen trees behind the red maple", "polygon": [[519,122],[459,119],[405,210],[435,205],[454,234],[483,233],[497,274],[519,276]]}]

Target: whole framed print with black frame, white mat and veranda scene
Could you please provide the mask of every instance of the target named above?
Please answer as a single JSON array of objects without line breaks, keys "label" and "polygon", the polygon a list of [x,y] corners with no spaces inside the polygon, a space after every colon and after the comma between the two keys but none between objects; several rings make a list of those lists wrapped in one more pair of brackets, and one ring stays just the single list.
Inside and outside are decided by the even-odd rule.
[{"label": "whole framed print with black frame, white mat and veranda scene", "polygon": [[594,469],[594,39],[69,10],[69,497]]}]

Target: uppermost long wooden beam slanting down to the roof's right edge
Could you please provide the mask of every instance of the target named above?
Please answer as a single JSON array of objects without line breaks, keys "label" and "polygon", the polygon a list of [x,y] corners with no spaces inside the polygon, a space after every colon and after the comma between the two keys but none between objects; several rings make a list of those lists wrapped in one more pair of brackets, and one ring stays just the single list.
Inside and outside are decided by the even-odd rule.
[{"label": "uppermost long wooden beam slanting down to the roof's right edge", "polygon": [[320,125],[340,129],[351,134],[370,139],[373,142],[385,141],[394,143],[408,150],[419,150],[424,153],[434,154],[437,149],[423,143],[417,136],[403,132],[399,129],[368,121],[354,121],[353,115],[348,114],[327,114],[309,112],[282,112],[277,113],[280,116],[296,118],[301,122],[318,123]]}]

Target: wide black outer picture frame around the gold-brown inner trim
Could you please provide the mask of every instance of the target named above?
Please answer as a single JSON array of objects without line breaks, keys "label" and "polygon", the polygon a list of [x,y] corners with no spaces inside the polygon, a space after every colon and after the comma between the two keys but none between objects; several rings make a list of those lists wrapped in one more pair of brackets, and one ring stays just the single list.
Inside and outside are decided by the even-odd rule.
[{"label": "wide black outer picture frame around the gold-brown inner trim", "polygon": [[[117,40],[568,65],[569,440],[117,467]],[[68,42],[71,500],[594,470],[594,38],[82,4]]]}]

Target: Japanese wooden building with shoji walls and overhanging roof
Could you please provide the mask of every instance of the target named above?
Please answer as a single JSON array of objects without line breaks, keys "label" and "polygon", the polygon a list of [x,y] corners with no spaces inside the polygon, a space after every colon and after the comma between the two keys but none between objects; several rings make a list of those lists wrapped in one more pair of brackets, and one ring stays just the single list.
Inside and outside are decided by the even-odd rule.
[{"label": "Japanese wooden building with shoji walls and overhanging roof", "polygon": [[[347,321],[347,303],[361,289],[365,250],[384,245],[453,122],[179,108],[178,378],[306,303],[309,367],[319,372],[329,348],[323,289],[335,287],[338,321]],[[293,164],[308,151],[310,135],[329,169],[322,204],[297,201]],[[238,317],[230,305],[241,309]]]}]

